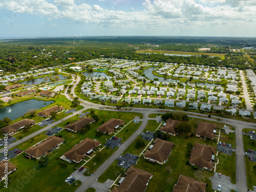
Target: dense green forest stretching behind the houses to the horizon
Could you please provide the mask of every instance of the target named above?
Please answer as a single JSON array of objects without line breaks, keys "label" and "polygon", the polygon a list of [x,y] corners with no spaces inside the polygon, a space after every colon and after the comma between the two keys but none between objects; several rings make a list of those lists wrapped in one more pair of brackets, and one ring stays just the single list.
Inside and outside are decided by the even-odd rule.
[{"label": "dense green forest stretching behind the houses to the horizon", "polygon": [[[230,49],[251,47],[233,54]],[[137,50],[198,52],[210,47],[214,53],[228,53],[225,59],[202,56],[167,56],[136,53]],[[31,38],[0,41],[0,70],[18,73],[30,69],[57,66],[95,58],[177,62],[194,65],[225,66],[239,69],[255,67],[256,38],[224,37],[79,37]],[[246,54],[251,55],[249,57]],[[248,65],[245,65],[248,62]],[[250,65],[250,66],[249,66]]]}]

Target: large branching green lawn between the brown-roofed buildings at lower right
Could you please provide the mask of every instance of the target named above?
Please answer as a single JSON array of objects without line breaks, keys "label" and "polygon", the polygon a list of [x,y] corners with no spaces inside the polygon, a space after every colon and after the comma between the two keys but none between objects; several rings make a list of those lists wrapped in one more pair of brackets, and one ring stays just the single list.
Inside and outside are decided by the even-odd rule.
[{"label": "large branching green lawn between the brown-roofed buildings at lower right", "polygon": [[[208,170],[194,170],[193,166],[187,165],[186,161],[189,160],[187,156],[187,143],[196,142],[208,144],[211,146],[216,146],[214,141],[206,141],[204,139],[199,139],[196,137],[188,137],[187,139],[184,136],[178,135],[176,137],[171,136],[168,141],[174,142],[174,147],[172,153],[170,154],[167,162],[163,165],[154,164],[142,159],[138,159],[137,164],[134,165],[137,168],[146,170],[149,173],[153,174],[153,178],[148,183],[147,192],[155,191],[172,191],[174,184],[177,183],[179,176],[184,175],[187,177],[192,177],[197,180],[206,182],[208,184],[206,191],[214,191],[211,189],[211,182],[209,177],[213,176],[213,172]],[[171,173],[168,170],[172,170]]]}]

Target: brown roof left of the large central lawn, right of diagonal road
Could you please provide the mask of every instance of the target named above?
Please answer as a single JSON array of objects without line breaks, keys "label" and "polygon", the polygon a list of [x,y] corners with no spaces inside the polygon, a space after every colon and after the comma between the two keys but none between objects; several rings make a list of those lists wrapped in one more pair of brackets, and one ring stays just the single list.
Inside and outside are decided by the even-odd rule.
[{"label": "brown roof left of the large central lawn, right of diagonal road", "polygon": [[167,161],[173,146],[174,146],[174,143],[157,138],[155,139],[154,145],[151,148],[151,150],[146,151],[146,153],[144,154],[144,157],[154,159],[159,162]]}]

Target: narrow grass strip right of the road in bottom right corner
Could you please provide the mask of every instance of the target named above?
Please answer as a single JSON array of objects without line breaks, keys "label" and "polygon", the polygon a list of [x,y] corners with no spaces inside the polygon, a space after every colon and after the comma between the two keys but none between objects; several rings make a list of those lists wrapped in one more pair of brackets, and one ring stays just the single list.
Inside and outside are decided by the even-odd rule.
[{"label": "narrow grass strip right of the road in bottom right corner", "polygon": [[248,188],[253,189],[253,186],[256,186],[256,169],[253,169],[253,166],[256,165],[255,162],[249,161],[248,156],[245,156],[245,168],[246,168],[246,178]]}]

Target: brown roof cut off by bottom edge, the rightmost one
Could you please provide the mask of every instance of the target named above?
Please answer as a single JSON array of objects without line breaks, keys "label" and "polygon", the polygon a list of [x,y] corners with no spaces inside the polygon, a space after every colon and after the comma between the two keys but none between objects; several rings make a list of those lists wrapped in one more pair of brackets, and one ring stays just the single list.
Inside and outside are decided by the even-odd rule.
[{"label": "brown roof cut off by bottom edge, the rightmost one", "polygon": [[205,192],[206,183],[180,175],[173,192]]}]

